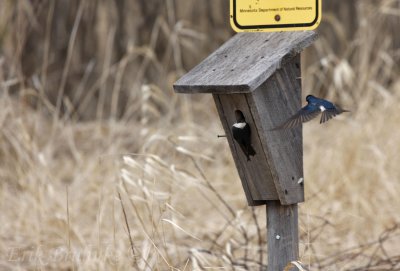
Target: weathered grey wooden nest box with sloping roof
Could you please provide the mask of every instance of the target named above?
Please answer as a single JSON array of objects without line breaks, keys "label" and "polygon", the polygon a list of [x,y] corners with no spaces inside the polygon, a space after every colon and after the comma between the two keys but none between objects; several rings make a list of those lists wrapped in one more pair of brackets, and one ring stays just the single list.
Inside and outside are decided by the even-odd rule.
[{"label": "weathered grey wooden nest box with sloping roof", "polygon": [[[300,52],[316,36],[312,31],[236,34],[174,84],[178,93],[213,95],[251,206],[304,201],[302,126],[272,129],[302,107]],[[250,160],[232,135],[235,111],[251,129]]]}]

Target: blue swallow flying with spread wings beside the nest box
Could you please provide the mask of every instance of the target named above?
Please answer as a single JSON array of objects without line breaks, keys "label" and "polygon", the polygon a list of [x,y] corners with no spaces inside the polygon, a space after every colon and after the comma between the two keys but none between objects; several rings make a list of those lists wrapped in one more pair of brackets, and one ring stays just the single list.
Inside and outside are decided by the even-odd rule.
[{"label": "blue swallow flying with spread wings beside the nest box", "polygon": [[299,112],[290,117],[287,121],[272,129],[272,131],[293,128],[302,124],[303,122],[312,120],[318,116],[319,113],[322,113],[319,123],[324,123],[343,112],[350,112],[348,110],[341,109],[339,106],[334,105],[327,100],[317,98],[313,95],[307,95],[306,101],[306,106],[300,109]]}]

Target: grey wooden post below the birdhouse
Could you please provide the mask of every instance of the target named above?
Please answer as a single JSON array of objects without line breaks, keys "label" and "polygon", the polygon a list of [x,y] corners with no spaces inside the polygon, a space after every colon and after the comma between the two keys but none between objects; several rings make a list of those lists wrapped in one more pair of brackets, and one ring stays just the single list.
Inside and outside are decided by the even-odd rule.
[{"label": "grey wooden post below the birdhouse", "polygon": [[267,202],[268,271],[282,271],[288,263],[298,260],[297,204],[281,205]]}]

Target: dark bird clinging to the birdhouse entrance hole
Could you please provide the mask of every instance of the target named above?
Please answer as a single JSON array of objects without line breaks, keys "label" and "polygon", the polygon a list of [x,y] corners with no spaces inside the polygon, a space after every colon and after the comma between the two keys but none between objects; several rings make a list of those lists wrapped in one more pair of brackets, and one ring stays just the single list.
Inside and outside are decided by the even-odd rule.
[{"label": "dark bird clinging to the birdhouse entrance hole", "polygon": [[236,142],[239,144],[243,153],[250,161],[250,156],[256,155],[255,150],[251,146],[251,130],[250,126],[246,123],[242,111],[235,111],[236,123],[232,125],[232,135]]}]

